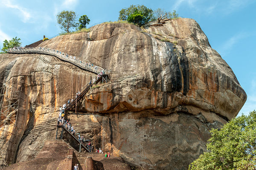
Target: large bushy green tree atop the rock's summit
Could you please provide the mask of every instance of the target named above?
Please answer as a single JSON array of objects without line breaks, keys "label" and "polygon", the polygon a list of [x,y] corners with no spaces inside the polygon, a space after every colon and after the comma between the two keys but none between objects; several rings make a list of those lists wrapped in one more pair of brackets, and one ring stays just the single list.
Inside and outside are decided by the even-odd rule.
[{"label": "large bushy green tree atop the rock's summit", "polygon": [[128,20],[128,17],[129,20],[134,18],[136,22],[140,19],[139,23],[142,25],[153,19],[153,11],[143,5],[131,5],[129,8],[123,8],[119,11],[118,20]]}]

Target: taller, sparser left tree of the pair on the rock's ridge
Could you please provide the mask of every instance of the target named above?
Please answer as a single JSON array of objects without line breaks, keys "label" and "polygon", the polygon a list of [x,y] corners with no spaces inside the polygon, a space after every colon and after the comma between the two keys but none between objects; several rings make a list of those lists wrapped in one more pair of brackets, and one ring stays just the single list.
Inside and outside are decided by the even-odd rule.
[{"label": "taller, sparser left tree of the pair on the rock's ridge", "polygon": [[70,28],[78,26],[78,23],[76,23],[76,12],[74,11],[61,11],[56,17],[60,28],[66,32],[70,32]]}]

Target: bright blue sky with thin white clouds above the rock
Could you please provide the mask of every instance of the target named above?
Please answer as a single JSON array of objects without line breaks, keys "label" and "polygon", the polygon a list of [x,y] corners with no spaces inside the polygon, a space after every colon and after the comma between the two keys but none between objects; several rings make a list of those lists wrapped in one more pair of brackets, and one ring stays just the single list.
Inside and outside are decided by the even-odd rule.
[{"label": "bright blue sky with thin white clouds above the rock", "polygon": [[28,45],[61,32],[56,14],[73,10],[86,14],[90,24],[118,19],[119,11],[131,4],[151,9],[176,10],[181,17],[192,18],[201,26],[209,42],[230,65],[247,102],[239,112],[256,110],[256,0],[0,0],[0,47],[3,40],[18,37]]}]

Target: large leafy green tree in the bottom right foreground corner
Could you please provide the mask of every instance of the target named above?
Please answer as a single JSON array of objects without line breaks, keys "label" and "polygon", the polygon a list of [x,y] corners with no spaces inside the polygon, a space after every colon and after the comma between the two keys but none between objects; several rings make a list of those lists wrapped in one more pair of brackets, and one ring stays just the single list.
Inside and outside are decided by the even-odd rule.
[{"label": "large leafy green tree in the bottom right foreground corner", "polygon": [[207,152],[189,170],[256,170],[256,111],[210,132]]}]

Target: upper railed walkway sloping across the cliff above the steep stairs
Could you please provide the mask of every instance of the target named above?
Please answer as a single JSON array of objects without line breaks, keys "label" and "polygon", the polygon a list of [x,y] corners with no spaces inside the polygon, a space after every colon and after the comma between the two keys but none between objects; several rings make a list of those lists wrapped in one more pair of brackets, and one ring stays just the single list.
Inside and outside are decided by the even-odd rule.
[{"label": "upper railed walkway sloping across the cliff above the steep stairs", "polygon": [[22,47],[15,47],[15,48],[9,48],[7,50],[7,53],[12,53],[12,54],[25,54],[25,53],[38,53],[38,54],[47,54],[47,55],[52,55],[57,57],[58,59],[61,59],[62,61],[65,62],[70,62],[73,65],[76,65],[77,67],[93,72],[95,74],[99,74],[100,71],[104,70],[107,72],[105,69],[91,64],[89,61],[82,59],[80,57],[68,55],[66,53],[63,53],[61,51],[51,49],[51,48],[43,48],[43,47],[34,47],[34,48],[22,48]]}]

